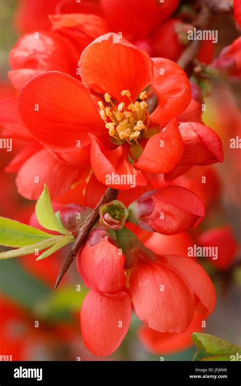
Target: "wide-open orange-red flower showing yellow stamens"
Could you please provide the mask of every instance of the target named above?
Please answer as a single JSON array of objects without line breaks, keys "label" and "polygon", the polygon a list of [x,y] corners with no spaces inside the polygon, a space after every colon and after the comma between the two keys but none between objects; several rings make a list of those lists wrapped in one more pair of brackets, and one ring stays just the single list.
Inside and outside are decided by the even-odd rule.
[{"label": "wide-open orange-red flower showing yellow stamens", "polygon": [[[166,147],[159,146],[159,157],[152,170],[160,173],[173,169],[182,155],[182,139],[176,121],[170,122],[160,134],[147,139],[155,131],[158,133],[160,125],[180,114],[190,102],[190,85],[183,70],[167,59],[155,59],[153,63],[146,53],[125,39],[118,39],[115,34],[107,34],[90,44],[83,51],[79,66],[82,83],[63,73],[50,72],[35,77],[22,87],[20,114],[34,137],[47,148],[62,152],[65,159],[65,153],[76,151],[78,141],[81,147],[91,142],[92,168],[102,183],[106,183],[107,174],[113,173],[132,174],[137,186],[145,185],[142,172],[129,161],[129,145],[132,145],[131,154],[135,145],[143,151],[136,167],[149,170],[144,160],[149,159],[153,150],[148,143],[158,147],[160,138],[166,141]],[[164,75],[160,70],[161,73],[164,70]],[[159,105],[150,116],[146,110],[146,93],[141,93],[149,83],[153,83],[159,97]],[[110,107],[99,102],[105,123],[84,86],[105,93]],[[110,95],[118,104],[113,104]],[[141,102],[136,101],[138,95]],[[33,101],[39,105],[37,112]],[[144,142],[147,142],[146,146]],[[136,157],[136,151],[134,153]],[[68,162],[71,162],[70,158]],[[110,182],[108,185],[129,189],[131,182],[125,185]]]}]

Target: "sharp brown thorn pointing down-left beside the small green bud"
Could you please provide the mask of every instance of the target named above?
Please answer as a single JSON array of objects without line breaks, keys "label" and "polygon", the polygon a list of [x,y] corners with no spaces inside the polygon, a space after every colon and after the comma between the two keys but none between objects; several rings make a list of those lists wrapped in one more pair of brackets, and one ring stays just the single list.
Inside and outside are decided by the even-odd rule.
[{"label": "sharp brown thorn pointing down-left beside the small green bud", "polygon": [[70,265],[72,264],[73,260],[75,259],[81,246],[86,241],[86,239],[89,235],[89,232],[91,232],[95,223],[98,221],[98,219],[100,217],[100,215],[99,215],[100,206],[103,204],[106,204],[112,200],[115,200],[117,195],[118,195],[117,189],[113,189],[112,187],[108,187],[105,191],[104,196],[100,200],[99,204],[95,207],[95,209],[93,209],[91,214],[88,215],[86,220],[83,222],[83,224],[79,228],[79,232],[78,232],[77,238],[75,240],[75,243],[74,243],[73,247],[71,248],[71,251],[67,256],[65,263],[64,263],[63,267],[61,268],[61,270],[59,271],[59,274],[57,276],[57,280],[55,283],[55,289],[57,288],[58,284],[61,282],[65,273],[68,271]]}]

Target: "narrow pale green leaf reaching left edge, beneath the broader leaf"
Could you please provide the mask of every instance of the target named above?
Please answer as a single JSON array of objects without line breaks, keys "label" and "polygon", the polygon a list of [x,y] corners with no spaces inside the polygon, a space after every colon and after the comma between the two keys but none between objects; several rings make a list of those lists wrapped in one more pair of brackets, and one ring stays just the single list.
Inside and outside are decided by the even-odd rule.
[{"label": "narrow pale green leaf reaching left edge, beneath the broader leaf", "polygon": [[61,239],[62,239],[62,236],[54,236],[47,240],[40,241],[37,244],[27,245],[22,248],[11,249],[8,251],[0,252],[0,260],[17,258],[18,256],[24,256],[26,254],[34,253],[36,249],[43,250],[45,248],[51,247],[52,245],[56,244]]}]

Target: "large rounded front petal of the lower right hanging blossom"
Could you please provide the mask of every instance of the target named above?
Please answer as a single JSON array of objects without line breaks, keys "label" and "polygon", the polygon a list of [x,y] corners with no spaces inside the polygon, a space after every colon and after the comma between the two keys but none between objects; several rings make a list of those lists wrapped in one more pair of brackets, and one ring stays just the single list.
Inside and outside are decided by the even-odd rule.
[{"label": "large rounded front petal of the lower right hanging blossom", "polygon": [[193,293],[183,276],[165,265],[139,260],[130,277],[130,291],[137,316],[150,328],[183,332],[190,325]]}]

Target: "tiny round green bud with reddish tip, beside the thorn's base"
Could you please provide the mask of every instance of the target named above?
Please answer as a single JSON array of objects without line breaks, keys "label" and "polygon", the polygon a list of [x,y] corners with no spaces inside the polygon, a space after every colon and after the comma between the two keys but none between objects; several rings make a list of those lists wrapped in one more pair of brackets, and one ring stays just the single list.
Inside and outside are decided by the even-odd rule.
[{"label": "tiny round green bud with reddish tip, beside the thorn's base", "polygon": [[106,228],[122,229],[129,212],[125,205],[118,201],[110,201],[100,207],[100,222]]}]

